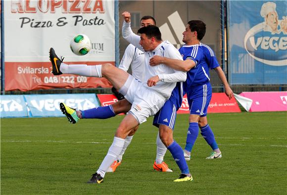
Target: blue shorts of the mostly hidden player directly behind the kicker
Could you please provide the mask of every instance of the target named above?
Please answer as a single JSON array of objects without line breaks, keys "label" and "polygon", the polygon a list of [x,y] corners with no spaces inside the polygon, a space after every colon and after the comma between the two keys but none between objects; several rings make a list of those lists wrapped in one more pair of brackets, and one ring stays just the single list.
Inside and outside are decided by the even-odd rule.
[{"label": "blue shorts of the mostly hidden player directly behind the kicker", "polygon": [[170,127],[172,130],[174,129],[176,112],[179,109],[178,104],[171,96],[163,105],[163,107],[154,115],[153,125],[159,127],[160,124],[166,125]]}]

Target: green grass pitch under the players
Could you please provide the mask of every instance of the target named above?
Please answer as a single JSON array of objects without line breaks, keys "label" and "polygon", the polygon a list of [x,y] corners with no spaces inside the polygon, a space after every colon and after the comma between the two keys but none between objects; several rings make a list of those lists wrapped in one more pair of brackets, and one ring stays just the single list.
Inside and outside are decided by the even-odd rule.
[{"label": "green grass pitch under the players", "polygon": [[[180,170],[167,152],[173,173],[152,169],[157,129],[142,124],[115,173],[99,185],[86,184],[113,140],[121,116],[86,119],[1,119],[1,195],[44,194],[287,194],[287,112],[210,114],[221,159],[201,135],[188,161],[194,181],[173,182]],[[177,117],[175,140],[185,146],[188,115]]]}]

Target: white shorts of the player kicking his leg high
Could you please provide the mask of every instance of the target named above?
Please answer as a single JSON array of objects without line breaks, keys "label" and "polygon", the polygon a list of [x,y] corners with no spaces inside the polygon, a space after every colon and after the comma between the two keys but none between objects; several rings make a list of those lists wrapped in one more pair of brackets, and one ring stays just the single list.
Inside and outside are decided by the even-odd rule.
[{"label": "white shorts of the player kicking his leg high", "polygon": [[133,76],[129,76],[125,85],[119,90],[132,104],[129,111],[141,124],[146,118],[155,115],[164,105],[166,98],[157,91],[147,88]]}]

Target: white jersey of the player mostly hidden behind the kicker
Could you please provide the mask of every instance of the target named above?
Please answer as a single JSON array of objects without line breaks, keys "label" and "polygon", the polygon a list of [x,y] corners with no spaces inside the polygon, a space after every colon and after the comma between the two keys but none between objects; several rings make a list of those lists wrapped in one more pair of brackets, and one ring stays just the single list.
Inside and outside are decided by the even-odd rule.
[{"label": "white jersey of the player mostly hidden behind the kicker", "polygon": [[119,68],[128,71],[132,66],[132,76],[138,80],[144,80],[144,52],[133,44],[129,44],[125,50]]}]

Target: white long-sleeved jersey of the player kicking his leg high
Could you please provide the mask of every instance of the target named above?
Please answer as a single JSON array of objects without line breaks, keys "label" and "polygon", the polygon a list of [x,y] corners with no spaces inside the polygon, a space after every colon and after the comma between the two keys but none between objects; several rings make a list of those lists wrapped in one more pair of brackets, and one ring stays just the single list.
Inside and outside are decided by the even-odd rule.
[{"label": "white long-sleeved jersey of the player kicking his leg high", "polygon": [[[135,45],[137,48],[144,51],[140,45],[140,36],[133,33],[130,23],[124,21],[122,28],[123,38]],[[145,73],[143,82],[146,82],[149,78],[158,76],[159,82],[151,89],[161,93],[165,98],[169,98],[172,90],[176,86],[176,82],[185,81],[187,78],[186,72],[174,70],[164,64],[157,66],[150,66],[149,60],[154,55],[164,56],[171,59],[183,60],[180,52],[169,41],[162,41],[153,51],[144,52],[144,65]],[[148,87],[147,84],[144,85]]]}]

